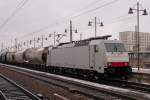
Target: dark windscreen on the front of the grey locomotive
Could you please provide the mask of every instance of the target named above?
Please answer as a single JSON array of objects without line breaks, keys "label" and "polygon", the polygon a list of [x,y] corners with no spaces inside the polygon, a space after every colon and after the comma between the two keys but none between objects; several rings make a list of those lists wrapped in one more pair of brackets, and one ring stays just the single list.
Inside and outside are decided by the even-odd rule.
[{"label": "dark windscreen on the front of the grey locomotive", "polygon": [[123,43],[105,43],[107,52],[125,52]]}]

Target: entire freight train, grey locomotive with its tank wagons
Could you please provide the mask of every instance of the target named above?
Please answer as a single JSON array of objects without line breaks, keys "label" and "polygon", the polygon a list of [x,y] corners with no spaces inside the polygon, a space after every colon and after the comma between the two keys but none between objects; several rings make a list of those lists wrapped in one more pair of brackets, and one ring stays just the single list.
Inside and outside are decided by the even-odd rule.
[{"label": "entire freight train, grey locomotive with its tank wagons", "polygon": [[132,68],[124,44],[119,40],[108,40],[108,37],[60,43],[55,47],[3,52],[0,61],[53,73],[83,76],[130,74]]}]

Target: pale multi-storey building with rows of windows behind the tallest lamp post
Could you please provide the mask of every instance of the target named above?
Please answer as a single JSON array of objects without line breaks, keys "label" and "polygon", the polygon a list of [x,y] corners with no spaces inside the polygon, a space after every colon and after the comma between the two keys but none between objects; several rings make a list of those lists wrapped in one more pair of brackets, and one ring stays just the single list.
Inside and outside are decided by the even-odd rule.
[{"label": "pale multi-storey building with rows of windows behind the tallest lamp post", "polygon": [[[150,33],[139,33],[140,51],[150,50]],[[119,33],[119,40],[121,40],[129,52],[137,51],[137,32],[124,31]]]}]

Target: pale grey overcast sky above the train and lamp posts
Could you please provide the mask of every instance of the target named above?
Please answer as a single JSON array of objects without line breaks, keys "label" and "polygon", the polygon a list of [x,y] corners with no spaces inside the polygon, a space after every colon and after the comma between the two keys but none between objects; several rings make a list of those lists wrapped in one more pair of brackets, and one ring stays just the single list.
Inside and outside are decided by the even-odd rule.
[{"label": "pale grey overcast sky above the train and lamp posts", "polygon": [[[22,0],[0,0],[0,26],[12,14]],[[118,38],[118,32],[134,30],[136,13],[128,15],[129,7],[134,7],[137,0],[27,0],[27,3],[11,19],[0,27],[0,42],[10,45],[10,41],[18,38],[19,41],[33,39],[33,37],[47,36],[54,31],[63,33],[69,27],[69,19],[73,15],[87,10],[101,7],[78,17],[71,18],[74,28],[79,30],[74,39],[79,39],[82,33],[84,38],[94,36],[94,27],[88,27],[88,21],[95,16],[104,22],[104,27],[98,28],[98,35],[111,34]],[[97,3],[94,3],[97,2]],[[150,0],[140,0],[143,8],[150,12]],[[68,17],[65,17],[68,16]],[[65,17],[65,18],[63,18]],[[60,24],[61,23],[61,24]],[[45,28],[46,27],[46,28]],[[150,32],[150,14],[140,17],[140,31]],[[39,31],[40,30],[40,31]],[[38,32],[39,31],[39,32]],[[69,34],[67,34],[69,37]],[[65,38],[65,40],[68,38]]]}]

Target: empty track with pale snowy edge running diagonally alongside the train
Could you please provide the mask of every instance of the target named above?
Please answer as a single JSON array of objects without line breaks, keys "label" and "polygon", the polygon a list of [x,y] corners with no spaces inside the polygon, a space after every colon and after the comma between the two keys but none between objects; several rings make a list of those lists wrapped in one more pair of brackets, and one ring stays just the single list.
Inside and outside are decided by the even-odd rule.
[{"label": "empty track with pale snowy edge running diagonally alongside the train", "polygon": [[31,71],[24,68],[18,69],[17,67],[12,67],[10,65],[5,65],[5,67],[7,67],[7,69],[9,70],[16,71],[17,73],[24,74],[26,76],[30,76],[42,82],[63,87],[70,92],[78,92],[84,94],[87,97],[94,98],[96,100],[150,100],[150,95],[146,93],[101,85],[89,81],[64,78],[63,76]]}]

